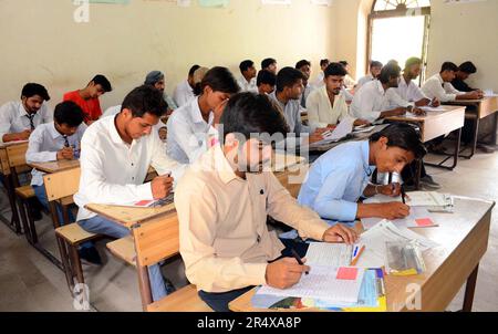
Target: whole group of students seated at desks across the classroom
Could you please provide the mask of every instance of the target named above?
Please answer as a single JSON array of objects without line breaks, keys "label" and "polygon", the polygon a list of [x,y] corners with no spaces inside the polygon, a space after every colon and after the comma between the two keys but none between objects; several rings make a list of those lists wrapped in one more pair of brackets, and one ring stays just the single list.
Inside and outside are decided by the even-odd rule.
[{"label": "whole group of students seated at desks across the classroom", "polygon": [[[359,84],[349,77],[346,62],[323,60],[320,65],[314,83],[305,60],[278,71],[277,61],[267,59],[259,73],[252,61],[243,61],[238,80],[226,67],[195,65],[173,97],[165,93],[165,75],[153,71],[103,116],[98,97],[112,91],[103,75],[64,94],[53,113],[45,103],[48,91],[29,83],[21,101],[1,106],[0,140],[29,139],[28,163],[80,158],[75,220],[89,232],[129,234],[127,228],[85,209],[87,203],[158,200],[175,189],[186,276],[209,306],[227,311],[231,300],[255,285],[286,289],[299,282],[310,268],[290,254],[298,250],[304,255],[304,239],[354,243],[357,234],[351,223],[356,219],[406,217],[409,207],[404,203],[367,205],[361,199],[398,196],[400,184],[372,181],[374,169],[403,175],[426,154],[416,129],[390,125],[369,140],[342,144],[322,155],[294,199],[269,168],[274,136],[280,135],[286,147],[305,146],[345,117],[363,125],[406,112],[423,114],[419,106],[483,96],[463,82],[475,73],[468,63],[445,63],[422,88],[414,82],[419,59],[406,62],[403,76],[396,62],[372,62],[370,76]],[[301,121],[304,108],[308,124]],[[158,176],[144,184],[149,166]],[[46,208],[42,176],[33,169],[31,185]],[[267,226],[268,216],[300,237],[279,240]],[[102,263],[91,242],[80,254]],[[148,270],[154,301],[174,291],[158,264]]]}]

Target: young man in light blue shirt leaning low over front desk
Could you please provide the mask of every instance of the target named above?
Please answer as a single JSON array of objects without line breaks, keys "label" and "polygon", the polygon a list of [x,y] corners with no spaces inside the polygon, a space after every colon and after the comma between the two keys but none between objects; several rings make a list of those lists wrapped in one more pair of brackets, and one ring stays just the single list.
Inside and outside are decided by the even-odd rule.
[{"label": "young man in light blue shirt leaning low over front desk", "polygon": [[364,205],[363,197],[377,194],[397,197],[398,184],[376,186],[369,182],[373,168],[380,173],[401,173],[425,155],[419,135],[407,124],[393,124],[371,136],[351,142],[322,155],[308,173],[298,201],[330,221],[352,222],[357,218],[404,218],[409,208],[402,202]]}]

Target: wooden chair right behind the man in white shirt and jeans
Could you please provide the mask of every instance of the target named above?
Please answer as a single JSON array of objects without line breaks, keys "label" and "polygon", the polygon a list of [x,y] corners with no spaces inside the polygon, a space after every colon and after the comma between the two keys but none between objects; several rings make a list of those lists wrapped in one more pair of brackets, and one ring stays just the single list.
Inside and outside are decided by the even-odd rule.
[{"label": "wooden chair right behind the man in white shirt and jeans", "polygon": [[[73,195],[80,187],[80,168],[66,169],[43,176],[43,184],[46,190],[52,212],[53,226],[61,253],[62,267],[64,269],[68,288],[74,292],[74,278],[79,283],[84,284],[83,269],[81,265],[77,248],[83,242],[95,239],[98,236],[89,233],[77,223],[70,223],[69,206],[73,203]],[[64,222],[59,221],[58,203],[62,208]]]}]

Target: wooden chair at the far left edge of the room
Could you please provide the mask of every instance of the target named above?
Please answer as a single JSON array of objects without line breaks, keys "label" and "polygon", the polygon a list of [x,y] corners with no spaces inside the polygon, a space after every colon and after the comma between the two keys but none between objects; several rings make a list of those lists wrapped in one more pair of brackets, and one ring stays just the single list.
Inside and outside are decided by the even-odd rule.
[{"label": "wooden chair at the far left edge of the room", "polygon": [[25,163],[25,152],[28,150],[28,143],[20,145],[12,145],[7,147],[7,159],[10,166],[11,185],[14,188],[17,207],[12,207],[12,219],[17,232],[21,232],[21,225],[19,216],[21,216],[21,223],[24,236],[28,242],[33,243],[30,227],[33,226],[33,217],[31,215],[30,200],[34,198],[34,191],[30,185],[21,186],[19,182],[19,174],[28,173],[31,168]]}]

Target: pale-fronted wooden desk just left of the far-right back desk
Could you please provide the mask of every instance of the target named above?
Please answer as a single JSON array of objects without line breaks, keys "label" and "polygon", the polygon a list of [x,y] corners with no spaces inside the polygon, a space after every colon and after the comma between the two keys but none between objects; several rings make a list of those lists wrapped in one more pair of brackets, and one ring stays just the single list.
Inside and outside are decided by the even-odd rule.
[{"label": "pale-fronted wooden desk just left of the far-right back desk", "polygon": [[443,106],[445,111],[428,112],[426,116],[411,117],[411,116],[394,116],[387,117],[391,122],[414,123],[421,127],[422,142],[427,143],[439,136],[444,136],[452,132],[457,133],[457,144],[453,154],[453,165],[445,166],[444,164],[452,157],[448,156],[439,164],[426,164],[427,166],[439,167],[453,170],[458,164],[458,154],[460,152],[460,135],[465,123],[465,107],[463,106]]}]

